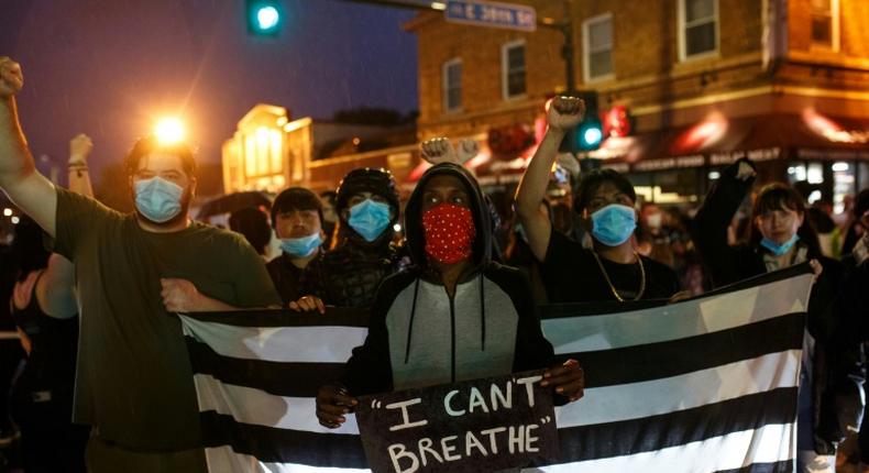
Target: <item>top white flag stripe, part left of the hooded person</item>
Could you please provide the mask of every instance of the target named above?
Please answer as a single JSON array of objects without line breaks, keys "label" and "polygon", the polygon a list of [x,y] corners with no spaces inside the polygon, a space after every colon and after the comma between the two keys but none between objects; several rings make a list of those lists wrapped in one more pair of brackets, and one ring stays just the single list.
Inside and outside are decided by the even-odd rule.
[{"label": "top white flag stripe, part left of the hooded person", "polygon": [[369,333],[359,327],[235,327],[179,317],[193,329],[185,333],[205,340],[221,355],[244,360],[344,363]]}]

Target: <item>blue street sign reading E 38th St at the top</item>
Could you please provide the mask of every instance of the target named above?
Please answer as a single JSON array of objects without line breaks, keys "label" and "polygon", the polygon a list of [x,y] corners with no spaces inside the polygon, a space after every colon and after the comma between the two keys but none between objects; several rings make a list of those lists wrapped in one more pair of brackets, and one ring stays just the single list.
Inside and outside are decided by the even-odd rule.
[{"label": "blue street sign reading E 38th St at the top", "polygon": [[443,12],[451,23],[535,31],[537,11],[534,7],[483,0],[449,0]]}]

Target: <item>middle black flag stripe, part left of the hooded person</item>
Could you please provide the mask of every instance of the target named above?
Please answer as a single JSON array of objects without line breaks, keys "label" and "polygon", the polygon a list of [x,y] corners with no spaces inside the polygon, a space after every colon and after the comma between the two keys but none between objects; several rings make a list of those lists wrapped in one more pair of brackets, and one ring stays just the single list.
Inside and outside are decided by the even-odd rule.
[{"label": "middle black flag stripe, part left of the hooded person", "polygon": [[317,397],[323,384],[341,377],[343,363],[283,363],[223,356],[206,343],[185,337],[194,373],[227,384],[254,387],[277,396]]}]

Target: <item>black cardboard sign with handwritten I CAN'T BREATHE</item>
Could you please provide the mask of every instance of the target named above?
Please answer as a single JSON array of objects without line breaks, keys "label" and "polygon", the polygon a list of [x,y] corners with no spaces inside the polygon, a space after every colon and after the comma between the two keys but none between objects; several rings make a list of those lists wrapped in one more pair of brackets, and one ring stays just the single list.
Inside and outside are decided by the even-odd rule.
[{"label": "black cardboard sign with handwritten I CAN'T BREATHE", "polygon": [[482,472],[558,458],[542,371],[359,398],[356,421],[374,473]]}]

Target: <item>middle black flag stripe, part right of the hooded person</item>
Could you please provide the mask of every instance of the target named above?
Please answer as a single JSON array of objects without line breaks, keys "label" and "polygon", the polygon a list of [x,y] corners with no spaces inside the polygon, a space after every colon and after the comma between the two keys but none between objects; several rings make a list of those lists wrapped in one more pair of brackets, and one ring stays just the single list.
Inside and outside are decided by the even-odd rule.
[{"label": "middle black flag stripe, part right of the hooded person", "polygon": [[804,312],[790,314],[702,336],[559,358],[580,362],[586,388],[629,384],[801,349],[804,323]]}]

